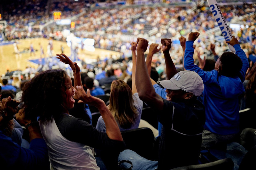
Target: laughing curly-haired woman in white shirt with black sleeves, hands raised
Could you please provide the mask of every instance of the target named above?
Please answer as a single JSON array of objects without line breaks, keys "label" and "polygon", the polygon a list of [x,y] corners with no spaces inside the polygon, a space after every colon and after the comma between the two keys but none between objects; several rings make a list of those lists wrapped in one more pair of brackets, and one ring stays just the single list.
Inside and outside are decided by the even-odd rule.
[{"label": "laughing curly-haired woman in white shirt with black sleeves, hands raised", "polygon": [[[122,151],[124,142],[116,121],[105,103],[83,90],[80,68],[65,54],[57,58],[67,63],[74,72],[74,85],[64,70],[47,70],[28,81],[22,101],[26,116],[40,116],[39,125],[46,140],[49,159],[54,169],[99,169],[94,148]],[[75,96],[76,95],[76,96]],[[33,96],[41,96],[37,100]],[[106,123],[106,132],[93,128],[82,119],[69,116],[68,109],[75,100],[97,107]]]}]

